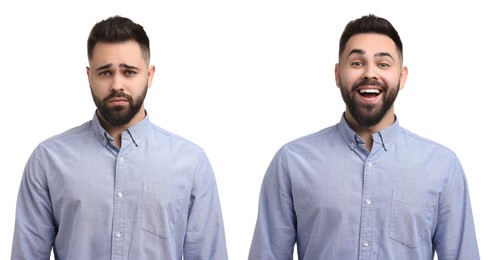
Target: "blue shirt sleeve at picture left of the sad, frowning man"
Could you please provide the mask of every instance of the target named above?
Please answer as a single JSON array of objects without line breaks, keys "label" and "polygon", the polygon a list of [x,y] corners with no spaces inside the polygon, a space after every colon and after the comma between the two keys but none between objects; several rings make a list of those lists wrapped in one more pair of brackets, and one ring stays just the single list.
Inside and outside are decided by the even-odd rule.
[{"label": "blue shirt sleeve at picture left of the sad, frowning man", "polygon": [[29,158],[17,197],[11,259],[49,259],[55,237],[48,184],[38,147]]}]

